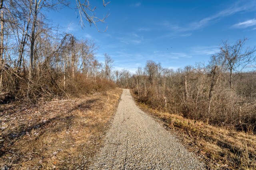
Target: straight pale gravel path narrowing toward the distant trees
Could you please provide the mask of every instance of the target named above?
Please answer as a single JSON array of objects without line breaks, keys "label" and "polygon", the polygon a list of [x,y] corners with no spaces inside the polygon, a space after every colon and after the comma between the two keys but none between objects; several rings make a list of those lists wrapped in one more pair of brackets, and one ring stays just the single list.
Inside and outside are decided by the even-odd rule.
[{"label": "straight pale gravel path narrowing toward the distant trees", "polygon": [[90,169],[205,169],[170,132],[140,110],[124,89],[104,146]]}]

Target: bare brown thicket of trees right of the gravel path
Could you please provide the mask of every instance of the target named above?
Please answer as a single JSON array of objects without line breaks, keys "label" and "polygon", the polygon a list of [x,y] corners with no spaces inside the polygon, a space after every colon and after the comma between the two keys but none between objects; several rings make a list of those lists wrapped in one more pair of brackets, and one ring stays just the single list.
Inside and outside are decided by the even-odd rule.
[{"label": "bare brown thicket of trees right of the gravel path", "polygon": [[246,71],[255,62],[255,49],[244,48],[245,42],[223,42],[208,65],[174,71],[147,61],[134,75],[116,73],[116,82],[134,88],[138,100],[152,108],[256,132],[256,74]]}]

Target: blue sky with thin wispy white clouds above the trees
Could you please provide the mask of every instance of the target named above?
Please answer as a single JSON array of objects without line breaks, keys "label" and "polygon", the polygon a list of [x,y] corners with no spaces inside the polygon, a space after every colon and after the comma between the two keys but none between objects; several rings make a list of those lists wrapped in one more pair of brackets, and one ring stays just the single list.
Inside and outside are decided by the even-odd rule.
[{"label": "blue sky with thin wispy white clouds above the trees", "polygon": [[106,32],[88,24],[82,29],[72,8],[48,17],[62,30],[92,40],[98,60],[108,53],[119,70],[135,72],[147,60],[173,69],[207,63],[222,40],[248,38],[247,46],[256,45],[256,0],[111,0],[105,8],[102,0],[90,4],[99,17],[110,13],[106,24],[98,25],[100,30],[108,26]]}]

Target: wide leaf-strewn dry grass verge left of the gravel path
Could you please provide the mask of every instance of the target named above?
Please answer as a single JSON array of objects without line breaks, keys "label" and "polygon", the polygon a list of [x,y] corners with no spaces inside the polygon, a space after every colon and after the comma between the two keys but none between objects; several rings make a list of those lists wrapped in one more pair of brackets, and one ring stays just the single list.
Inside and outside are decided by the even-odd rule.
[{"label": "wide leaf-strewn dry grass verge left of the gravel path", "polygon": [[0,167],[75,169],[90,165],[122,90],[76,102],[0,105]]}]

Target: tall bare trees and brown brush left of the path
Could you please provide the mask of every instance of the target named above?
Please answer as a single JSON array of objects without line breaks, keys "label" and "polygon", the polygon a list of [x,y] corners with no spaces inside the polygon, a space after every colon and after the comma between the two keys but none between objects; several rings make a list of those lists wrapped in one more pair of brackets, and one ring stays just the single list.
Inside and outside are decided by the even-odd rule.
[{"label": "tall bare trees and brown brush left of the path", "polygon": [[[59,32],[45,16],[67,2],[0,0],[0,102],[78,96],[114,87],[110,56],[100,63],[94,43]],[[86,15],[93,10],[88,3],[77,1],[82,17],[90,24],[104,21]]]}]

